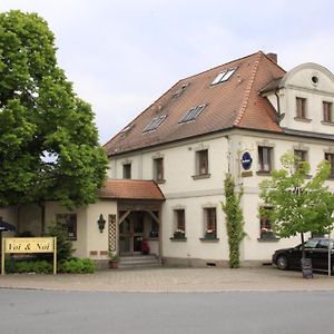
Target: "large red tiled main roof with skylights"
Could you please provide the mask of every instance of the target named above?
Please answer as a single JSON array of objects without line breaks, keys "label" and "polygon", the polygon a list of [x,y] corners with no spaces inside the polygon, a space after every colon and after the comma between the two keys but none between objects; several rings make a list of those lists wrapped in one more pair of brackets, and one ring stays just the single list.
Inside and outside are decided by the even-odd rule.
[{"label": "large red tiled main roof with skylights", "polygon": [[[230,68],[237,69],[226,82],[212,85],[219,72]],[[183,79],[135,118],[127,131],[111,138],[105,149],[114,155],[236,127],[282,131],[275,110],[259,90],[284,75],[259,51]],[[189,85],[184,92],[173,97],[186,84]],[[188,109],[204,104],[206,108],[195,121],[178,124]],[[156,130],[143,132],[155,117],[163,115],[167,117]]]}]

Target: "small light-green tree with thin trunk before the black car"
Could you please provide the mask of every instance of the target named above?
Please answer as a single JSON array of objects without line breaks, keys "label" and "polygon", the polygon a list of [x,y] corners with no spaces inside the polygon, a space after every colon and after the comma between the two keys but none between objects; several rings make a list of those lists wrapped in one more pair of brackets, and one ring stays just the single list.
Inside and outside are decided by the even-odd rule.
[{"label": "small light-green tree with thin trunk before the black car", "polygon": [[261,183],[261,198],[269,206],[261,208],[279,237],[301,234],[302,257],[305,258],[304,234],[328,233],[333,228],[334,196],[324,185],[331,173],[328,161],[322,161],[310,178],[310,164],[292,154],[281,158],[283,168]]}]

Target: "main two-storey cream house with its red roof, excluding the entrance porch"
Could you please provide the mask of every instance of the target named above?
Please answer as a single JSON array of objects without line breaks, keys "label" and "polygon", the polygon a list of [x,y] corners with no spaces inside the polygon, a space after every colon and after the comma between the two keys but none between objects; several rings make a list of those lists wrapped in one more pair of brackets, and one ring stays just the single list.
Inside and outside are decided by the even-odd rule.
[{"label": "main two-storey cream house with its red roof, excluding the entrance porch", "polygon": [[[258,184],[286,151],[307,159],[312,173],[324,158],[334,167],[333,101],[334,76],[320,65],[285,72],[276,55],[263,52],[230,61],[180,80],[107,143],[109,177],[159,185],[167,263],[220,265],[228,261],[220,203],[230,173],[244,188],[242,261],[268,262],[299,240],[276,238],[259,219]],[[243,168],[244,153],[252,164]]]}]

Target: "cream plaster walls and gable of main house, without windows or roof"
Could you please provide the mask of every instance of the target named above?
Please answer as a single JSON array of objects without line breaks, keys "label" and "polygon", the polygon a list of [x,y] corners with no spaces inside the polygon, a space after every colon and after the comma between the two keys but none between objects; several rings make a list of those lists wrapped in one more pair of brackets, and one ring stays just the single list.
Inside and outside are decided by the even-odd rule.
[{"label": "cream plaster walls and gable of main house, without windows or roof", "polygon": [[[258,207],[258,184],[268,173],[258,173],[258,147],[272,149],[273,169],[281,167],[279,158],[286,151],[306,151],[311,174],[324,159],[325,153],[334,153],[334,141],[324,135],[334,135],[334,122],[323,119],[323,101],[334,102],[333,75],[321,66],[302,65],[282,79],[276,91],[266,94],[277,114],[282,117],[281,127],[292,132],[265,132],[246,129],[232,129],[206,136],[186,139],[168,145],[115,155],[110,158],[109,177],[121,178],[122,166],[131,164],[132,179],[153,179],[154,159],[164,159],[164,181],[159,187],[166,197],[163,205],[161,243],[163,257],[168,262],[184,264],[214,263],[228,261],[228,240],[225,215],[220,203],[224,200],[224,179],[230,173],[242,186],[245,232],[240,253],[243,262],[269,262],[277,248],[299,243],[298,237],[289,239],[261,238]],[[296,117],[296,97],[306,99],[306,117]],[[279,100],[278,100],[279,99]],[[196,175],[196,153],[207,149],[208,175]],[[242,154],[247,150],[253,158],[248,173],[242,170]],[[333,188],[333,181],[328,181]],[[333,190],[333,189],[332,189]],[[204,240],[204,209],[216,208],[217,238]],[[185,239],[174,239],[176,229],[175,210],[185,210]]]}]

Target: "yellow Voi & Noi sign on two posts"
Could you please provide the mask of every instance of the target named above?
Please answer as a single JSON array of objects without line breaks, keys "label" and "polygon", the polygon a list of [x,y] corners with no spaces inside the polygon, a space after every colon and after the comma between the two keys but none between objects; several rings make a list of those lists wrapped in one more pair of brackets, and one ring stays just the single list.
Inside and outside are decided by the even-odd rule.
[{"label": "yellow Voi & Noi sign on two posts", "polygon": [[1,252],[1,274],[4,275],[6,254],[53,253],[53,274],[57,273],[57,238],[3,238]]}]

